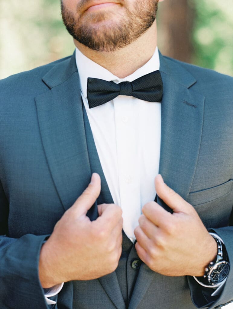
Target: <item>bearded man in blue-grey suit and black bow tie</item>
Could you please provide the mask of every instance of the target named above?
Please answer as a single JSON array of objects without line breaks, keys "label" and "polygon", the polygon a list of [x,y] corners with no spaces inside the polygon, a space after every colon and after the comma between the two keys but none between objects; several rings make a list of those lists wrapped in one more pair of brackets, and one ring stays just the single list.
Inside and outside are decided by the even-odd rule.
[{"label": "bearded man in blue-grey suit and black bow tie", "polygon": [[232,300],[233,81],[158,53],[157,2],[63,0],[73,56],[1,81],[1,309]]}]

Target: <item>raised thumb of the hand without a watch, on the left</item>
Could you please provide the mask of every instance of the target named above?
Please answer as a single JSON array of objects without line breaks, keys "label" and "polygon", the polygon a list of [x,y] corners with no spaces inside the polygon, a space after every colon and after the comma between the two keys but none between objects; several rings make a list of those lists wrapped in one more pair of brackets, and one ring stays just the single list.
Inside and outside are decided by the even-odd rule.
[{"label": "raised thumb of the hand without a watch, on the left", "polygon": [[78,199],[71,207],[72,210],[76,212],[78,217],[87,213],[87,211],[97,200],[97,197],[100,195],[100,190],[100,176],[97,173],[93,173],[91,182],[88,184],[88,187],[83,191],[83,193],[80,195],[80,197],[78,197]]}]

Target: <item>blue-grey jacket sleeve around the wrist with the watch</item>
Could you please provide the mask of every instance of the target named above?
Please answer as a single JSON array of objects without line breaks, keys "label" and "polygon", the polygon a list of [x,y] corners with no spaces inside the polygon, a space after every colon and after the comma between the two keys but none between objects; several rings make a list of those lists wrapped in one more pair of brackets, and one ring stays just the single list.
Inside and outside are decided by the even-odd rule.
[{"label": "blue-grey jacket sleeve around the wrist with the watch", "polygon": [[222,238],[226,246],[230,262],[230,272],[222,293],[217,296],[211,296],[213,291],[210,290],[212,289],[202,287],[193,277],[188,277],[192,301],[197,308],[221,308],[222,306],[233,302],[233,226],[226,226],[212,230]]}]

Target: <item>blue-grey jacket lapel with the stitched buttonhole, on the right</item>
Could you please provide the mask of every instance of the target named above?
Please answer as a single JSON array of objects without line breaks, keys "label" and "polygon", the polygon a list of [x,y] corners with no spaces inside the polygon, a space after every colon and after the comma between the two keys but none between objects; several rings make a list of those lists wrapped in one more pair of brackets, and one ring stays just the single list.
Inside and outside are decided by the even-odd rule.
[{"label": "blue-grey jacket lapel with the stitched buttonhole, on the right", "polygon": [[[163,80],[159,173],[185,200],[192,185],[201,142],[205,97],[190,88],[196,80],[160,54]],[[170,208],[157,196],[158,204]],[[129,309],[136,309],[156,273],[141,265]]]}]

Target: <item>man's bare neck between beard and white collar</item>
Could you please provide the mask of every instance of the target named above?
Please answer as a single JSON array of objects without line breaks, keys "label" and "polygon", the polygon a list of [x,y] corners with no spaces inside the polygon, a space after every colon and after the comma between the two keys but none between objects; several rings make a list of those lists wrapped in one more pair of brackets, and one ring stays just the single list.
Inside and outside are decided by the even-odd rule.
[{"label": "man's bare neck between beard and white collar", "polygon": [[112,53],[96,52],[74,40],[76,47],[86,57],[104,67],[118,78],[125,78],[143,66],[157,46],[156,22],[135,42]]}]

